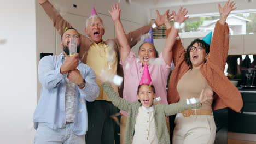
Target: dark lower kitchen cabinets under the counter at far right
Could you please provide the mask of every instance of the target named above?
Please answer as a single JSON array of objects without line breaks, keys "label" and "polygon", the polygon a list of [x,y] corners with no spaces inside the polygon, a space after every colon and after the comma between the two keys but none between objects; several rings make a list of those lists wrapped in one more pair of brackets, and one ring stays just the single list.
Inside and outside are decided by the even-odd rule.
[{"label": "dark lower kitchen cabinets under the counter at far right", "polygon": [[228,131],[256,134],[256,90],[241,92],[243,108],[241,113],[228,111]]}]

